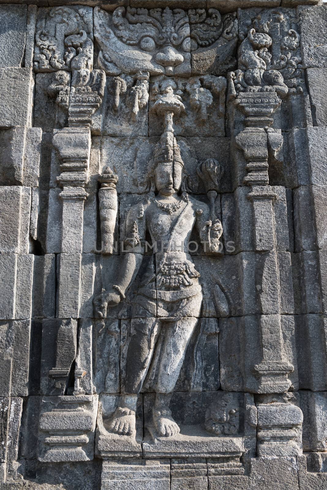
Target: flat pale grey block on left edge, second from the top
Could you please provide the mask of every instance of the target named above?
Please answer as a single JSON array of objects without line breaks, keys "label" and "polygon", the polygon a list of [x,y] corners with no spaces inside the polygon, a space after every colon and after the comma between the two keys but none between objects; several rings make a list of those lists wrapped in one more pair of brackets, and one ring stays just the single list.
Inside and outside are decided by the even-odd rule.
[{"label": "flat pale grey block on left edge, second from the top", "polygon": [[0,126],[31,126],[34,80],[29,68],[1,68]]}]

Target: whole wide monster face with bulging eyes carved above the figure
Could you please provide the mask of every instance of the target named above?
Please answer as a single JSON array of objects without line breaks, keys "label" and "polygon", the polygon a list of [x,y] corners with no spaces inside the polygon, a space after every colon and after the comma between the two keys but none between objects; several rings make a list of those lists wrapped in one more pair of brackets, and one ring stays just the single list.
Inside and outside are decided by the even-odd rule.
[{"label": "whole wide monster face with bulging eyes carved above the figure", "polygon": [[110,75],[189,76],[191,52],[194,73],[220,75],[235,63],[237,21],[215,9],[118,7],[110,14],[96,8],[94,37],[98,65]]}]

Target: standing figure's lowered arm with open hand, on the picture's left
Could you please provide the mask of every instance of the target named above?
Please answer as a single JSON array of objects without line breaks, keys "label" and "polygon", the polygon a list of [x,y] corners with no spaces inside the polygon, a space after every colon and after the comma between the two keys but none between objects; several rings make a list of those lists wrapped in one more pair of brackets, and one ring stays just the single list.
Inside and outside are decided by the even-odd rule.
[{"label": "standing figure's lowered arm with open hand, on the picture's left", "polygon": [[145,215],[142,205],[133,206],[126,219],[124,258],[116,283],[94,298],[94,307],[100,318],[106,317],[107,307],[116,306],[125,299],[125,293],[140,269],[144,254]]}]

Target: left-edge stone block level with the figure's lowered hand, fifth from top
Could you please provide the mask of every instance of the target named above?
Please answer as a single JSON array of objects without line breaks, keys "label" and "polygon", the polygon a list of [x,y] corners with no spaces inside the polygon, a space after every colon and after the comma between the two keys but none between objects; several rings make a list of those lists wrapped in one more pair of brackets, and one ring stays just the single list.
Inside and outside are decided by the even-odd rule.
[{"label": "left-edge stone block level with the figure's lowered hand, fifth from top", "polygon": [[0,319],[30,318],[34,256],[0,254]]}]

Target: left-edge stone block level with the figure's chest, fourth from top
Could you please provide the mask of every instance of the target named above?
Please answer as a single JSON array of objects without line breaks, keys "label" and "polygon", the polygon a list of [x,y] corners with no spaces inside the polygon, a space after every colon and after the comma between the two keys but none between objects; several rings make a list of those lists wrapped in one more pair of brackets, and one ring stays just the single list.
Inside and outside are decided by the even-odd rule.
[{"label": "left-edge stone block level with the figure's chest, fourth from top", "polygon": [[0,187],[0,252],[28,253],[31,189]]}]

